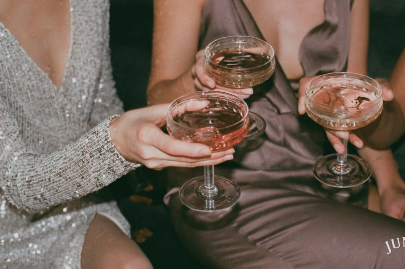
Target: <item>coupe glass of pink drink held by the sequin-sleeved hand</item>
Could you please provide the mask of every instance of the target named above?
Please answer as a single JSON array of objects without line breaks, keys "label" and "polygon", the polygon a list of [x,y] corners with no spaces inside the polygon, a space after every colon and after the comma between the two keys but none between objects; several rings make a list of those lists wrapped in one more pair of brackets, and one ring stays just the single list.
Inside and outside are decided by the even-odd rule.
[{"label": "coupe glass of pink drink held by the sequin-sleeved hand", "polygon": [[[248,133],[249,109],[237,96],[219,91],[199,91],[174,100],[168,109],[167,131],[176,139],[202,143],[212,152],[239,143]],[[187,181],[180,199],[198,211],[229,208],[239,200],[233,181],[214,175],[214,166],[204,166],[204,176]]]}]

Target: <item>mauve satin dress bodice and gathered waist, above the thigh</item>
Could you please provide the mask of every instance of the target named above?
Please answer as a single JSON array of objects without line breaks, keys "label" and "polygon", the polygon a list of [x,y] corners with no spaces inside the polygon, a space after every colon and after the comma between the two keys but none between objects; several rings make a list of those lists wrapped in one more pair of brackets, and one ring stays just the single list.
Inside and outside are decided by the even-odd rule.
[{"label": "mauve satin dress bodice and gathered waist, above the thigh", "polygon": [[[349,0],[325,1],[325,21],[313,28],[300,46],[299,57],[305,75],[344,70],[350,6]],[[200,49],[217,38],[232,35],[264,39],[242,0],[207,0],[202,13]],[[298,115],[297,87],[297,83],[288,81],[276,62],[270,79],[255,87],[254,94],[245,100],[251,111],[265,119],[265,134],[236,145],[234,160],[215,166],[218,175],[232,178],[238,184],[266,184],[271,181],[324,197],[339,196],[337,190],[332,190],[332,194],[313,177],[312,166],[324,155],[326,137],[321,126],[306,115]],[[176,172],[172,174],[173,170]],[[179,169],[169,171],[169,187],[176,187],[186,180],[184,173],[177,171]],[[187,171],[188,175],[202,173],[198,168],[193,172]],[[341,191],[341,199],[346,199],[353,191],[357,189]],[[365,206],[367,201],[357,202]]]}]

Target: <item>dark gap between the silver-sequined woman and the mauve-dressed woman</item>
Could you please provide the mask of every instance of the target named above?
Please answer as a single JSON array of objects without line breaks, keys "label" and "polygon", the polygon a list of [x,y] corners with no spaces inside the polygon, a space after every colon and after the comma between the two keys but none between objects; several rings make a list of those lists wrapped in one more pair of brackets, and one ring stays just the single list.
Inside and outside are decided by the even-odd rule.
[{"label": "dark gap between the silver-sequined woman and the mauve-dressed woman", "polygon": [[[111,61],[118,95],[125,110],[144,107],[150,69],[153,1],[110,0],[110,3]],[[140,167],[110,188],[131,224],[134,240],[155,269],[200,268],[175,235],[162,200],[166,192],[164,179],[157,172]],[[142,236],[145,229],[149,234]]]}]

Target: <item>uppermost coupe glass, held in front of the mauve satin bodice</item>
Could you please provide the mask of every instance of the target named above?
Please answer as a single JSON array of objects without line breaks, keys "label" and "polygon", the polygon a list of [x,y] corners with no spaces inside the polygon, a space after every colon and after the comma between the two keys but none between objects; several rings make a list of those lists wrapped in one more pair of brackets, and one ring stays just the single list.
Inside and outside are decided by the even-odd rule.
[{"label": "uppermost coupe glass, held in front of the mauve satin bodice", "polygon": [[[204,69],[219,85],[247,88],[270,78],[275,68],[274,50],[269,43],[250,36],[228,36],[212,41],[205,47]],[[262,135],[264,119],[249,113],[246,139]]]}]

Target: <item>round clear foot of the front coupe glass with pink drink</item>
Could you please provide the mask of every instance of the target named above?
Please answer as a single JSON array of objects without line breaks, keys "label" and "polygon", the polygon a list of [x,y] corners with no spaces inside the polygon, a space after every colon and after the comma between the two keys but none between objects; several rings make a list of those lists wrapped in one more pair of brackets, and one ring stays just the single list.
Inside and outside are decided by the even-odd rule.
[{"label": "round clear foot of the front coupe glass with pink drink", "polygon": [[207,196],[202,194],[203,176],[187,181],[180,189],[180,200],[191,209],[205,212],[224,210],[238,202],[240,189],[235,182],[221,176],[215,176],[214,182],[217,192]]}]

